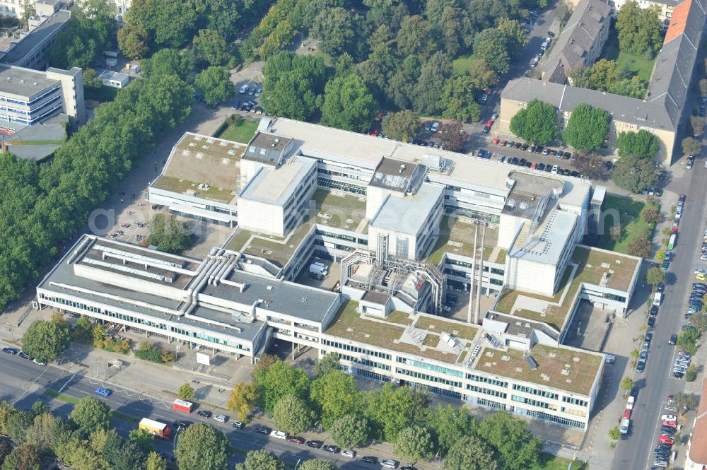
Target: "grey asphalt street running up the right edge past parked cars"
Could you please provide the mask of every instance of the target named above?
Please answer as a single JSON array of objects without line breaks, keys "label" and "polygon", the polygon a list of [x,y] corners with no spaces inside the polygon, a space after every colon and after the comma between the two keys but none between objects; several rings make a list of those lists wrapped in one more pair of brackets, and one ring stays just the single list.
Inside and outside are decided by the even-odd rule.
[{"label": "grey asphalt street running up the right edge past parked cars", "polygon": [[[679,225],[674,261],[667,271],[665,302],[660,306],[645,371],[642,374],[633,373],[639,388],[637,406],[633,409],[629,434],[617,446],[612,469],[650,469],[653,464],[653,448],[660,435],[660,415],[665,413],[662,405],[668,395],[684,389],[684,379],[670,377],[677,350],[667,342],[671,334],[678,334],[682,325],[686,324],[683,315],[687,311],[691,283],[695,282],[694,269],[706,267],[699,259],[707,220],[707,205],[704,204],[707,200],[707,185],[703,184],[707,170],[704,168],[704,160],[697,160],[695,168],[686,172],[686,181],[681,182],[689,188],[689,192]],[[667,204],[665,211],[670,213]],[[679,451],[682,451],[679,460],[684,460],[685,448],[679,447]]]}]

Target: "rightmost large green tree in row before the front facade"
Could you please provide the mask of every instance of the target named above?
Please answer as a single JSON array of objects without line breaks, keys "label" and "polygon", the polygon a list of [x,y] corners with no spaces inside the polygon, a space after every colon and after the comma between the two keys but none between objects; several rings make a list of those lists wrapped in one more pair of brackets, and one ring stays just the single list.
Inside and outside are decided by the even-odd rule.
[{"label": "rightmost large green tree in row before the front facade", "polygon": [[542,450],[542,443],[530,433],[527,423],[505,411],[481,421],[479,435],[496,450],[498,464],[508,470],[532,468]]}]

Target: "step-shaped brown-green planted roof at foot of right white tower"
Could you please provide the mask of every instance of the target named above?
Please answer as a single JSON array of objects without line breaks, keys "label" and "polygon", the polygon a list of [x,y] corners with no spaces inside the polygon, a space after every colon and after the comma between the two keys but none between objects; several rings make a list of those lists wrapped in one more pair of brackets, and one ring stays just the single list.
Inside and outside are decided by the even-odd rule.
[{"label": "step-shaped brown-green planted roof at foot of right white tower", "polygon": [[[536,322],[544,322],[557,331],[562,331],[575,295],[582,283],[625,291],[631,286],[631,280],[639,267],[639,259],[637,258],[581,245],[575,247],[571,260],[577,264],[575,274],[572,277],[573,266],[566,267],[559,288],[553,297],[504,289],[493,310]],[[560,303],[563,293],[563,302]],[[547,302],[544,312],[536,312],[527,308],[514,310],[519,296]]]}]

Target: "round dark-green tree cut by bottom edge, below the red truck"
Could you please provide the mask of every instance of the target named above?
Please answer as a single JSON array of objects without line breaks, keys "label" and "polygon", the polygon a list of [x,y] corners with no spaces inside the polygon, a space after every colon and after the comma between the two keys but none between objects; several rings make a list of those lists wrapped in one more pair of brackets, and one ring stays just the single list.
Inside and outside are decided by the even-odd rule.
[{"label": "round dark-green tree cut by bottom edge, below the red truck", "polygon": [[177,440],[177,464],[180,470],[226,470],[229,444],[214,426],[193,424]]}]

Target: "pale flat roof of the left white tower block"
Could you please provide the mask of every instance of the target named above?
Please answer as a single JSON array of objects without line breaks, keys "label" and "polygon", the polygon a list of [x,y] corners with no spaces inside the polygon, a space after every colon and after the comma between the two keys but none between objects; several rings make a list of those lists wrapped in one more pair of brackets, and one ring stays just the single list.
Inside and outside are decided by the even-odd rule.
[{"label": "pale flat roof of the left white tower block", "polygon": [[293,158],[279,168],[262,168],[245,185],[240,197],[283,206],[316,165],[311,158]]}]

